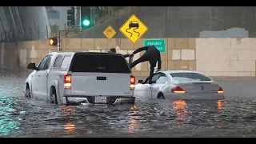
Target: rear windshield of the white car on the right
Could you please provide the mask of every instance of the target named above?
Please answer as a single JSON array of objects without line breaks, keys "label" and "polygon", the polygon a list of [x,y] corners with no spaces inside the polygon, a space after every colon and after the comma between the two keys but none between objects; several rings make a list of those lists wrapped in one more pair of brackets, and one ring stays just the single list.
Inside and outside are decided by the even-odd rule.
[{"label": "rear windshield of the white car on the right", "polygon": [[177,81],[211,81],[210,78],[198,73],[173,73],[170,76]]}]

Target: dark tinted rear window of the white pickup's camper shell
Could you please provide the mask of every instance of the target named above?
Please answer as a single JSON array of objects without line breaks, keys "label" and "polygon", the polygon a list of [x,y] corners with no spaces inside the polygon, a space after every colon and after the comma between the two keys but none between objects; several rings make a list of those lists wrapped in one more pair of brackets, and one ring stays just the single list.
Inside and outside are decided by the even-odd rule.
[{"label": "dark tinted rear window of the white pickup's camper shell", "polygon": [[130,74],[130,67],[126,59],[118,54],[76,54],[71,71]]}]

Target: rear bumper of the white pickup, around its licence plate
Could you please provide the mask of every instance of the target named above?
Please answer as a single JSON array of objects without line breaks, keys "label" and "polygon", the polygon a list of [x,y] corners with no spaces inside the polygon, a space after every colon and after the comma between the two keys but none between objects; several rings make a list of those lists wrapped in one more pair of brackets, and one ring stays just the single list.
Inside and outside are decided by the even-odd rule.
[{"label": "rear bumper of the white pickup, around its licence plate", "polygon": [[80,105],[81,103],[92,103],[92,104],[107,104],[107,105],[114,105],[114,104],[134,104],[135,97],[130,96],[106,96],[106,103],[95,103],[96,96],[70,96],[64,95],[66,98],[66,105]]}]

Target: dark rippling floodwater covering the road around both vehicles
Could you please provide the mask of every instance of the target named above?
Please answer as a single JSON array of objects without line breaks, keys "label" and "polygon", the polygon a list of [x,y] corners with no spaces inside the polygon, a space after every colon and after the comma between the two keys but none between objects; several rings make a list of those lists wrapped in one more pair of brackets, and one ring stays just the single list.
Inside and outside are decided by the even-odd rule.
[{"label": "dark rippling floodwater covering the road around both vehicles", "polygon": [[224,101],[55,106],[24,97],[27,75],[0,72],[0,137],[256,137],[255,78],[214,78]]}]

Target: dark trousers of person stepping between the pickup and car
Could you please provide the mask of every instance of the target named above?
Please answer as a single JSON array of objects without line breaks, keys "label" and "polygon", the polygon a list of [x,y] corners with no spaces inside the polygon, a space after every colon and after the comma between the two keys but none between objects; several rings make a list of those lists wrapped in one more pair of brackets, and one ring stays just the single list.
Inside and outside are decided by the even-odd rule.
[{"label": "dark trousers of person stepping between the pickup and car", "polygon": [[138,58],[136,61],[134,61],[131,65],[130,65],[130,69],[132,69],[134,66],[138,65],[138,63],[141,63],[141,62],[146,62],[146,61],[149,61],[150,62],[150,77],[149,77],[149,84],[152,83],[152,76],[154,74],[154,67],[156,66],[157,64],[157,60],[156,59],[153,59],[153,58],[149,58],[148,55],[142,55],[141,58]]}]

